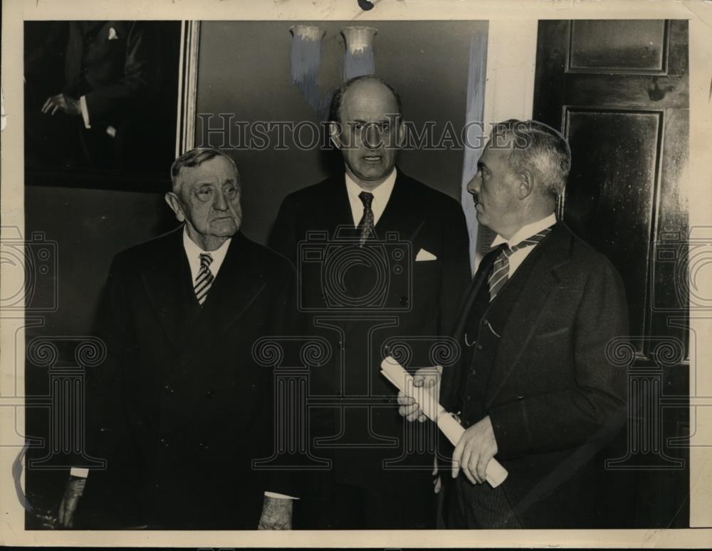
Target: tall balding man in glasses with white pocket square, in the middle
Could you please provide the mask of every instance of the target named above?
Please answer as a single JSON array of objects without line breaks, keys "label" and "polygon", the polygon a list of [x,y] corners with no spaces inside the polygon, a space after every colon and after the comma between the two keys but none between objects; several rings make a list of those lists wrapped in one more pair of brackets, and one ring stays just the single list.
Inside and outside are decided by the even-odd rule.
[{"label": "tall balding man in glasses with white pocket square, in the middle", "polygon": [[408,366],[434,364],[469,281],[468,235],[456,200],[395,167],[400,116],[398,94],[380,78],[344,83],[330,133],[345,174],[288,195],[271,233],[270,246],[298,265],[309,330],[334,351],[310,388],[320,400],[310,408],[311,451],[333,463],[295,503],[295,526],[434,527],[435,435],[399,418],[379,364],[403,346]]}]

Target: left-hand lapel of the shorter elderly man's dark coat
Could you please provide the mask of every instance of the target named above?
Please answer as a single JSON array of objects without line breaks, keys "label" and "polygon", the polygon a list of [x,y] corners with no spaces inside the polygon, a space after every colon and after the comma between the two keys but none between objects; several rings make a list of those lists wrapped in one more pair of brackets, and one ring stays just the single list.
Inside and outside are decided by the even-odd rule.
[{"label": "left-hand lapel of the shorter elderly man's dark coat", "polygon": [[183,247],[183,226],[167,235],[165,246],[149,262],[143,272],[148,301],[169,339],[181,350],[198,311]]}]

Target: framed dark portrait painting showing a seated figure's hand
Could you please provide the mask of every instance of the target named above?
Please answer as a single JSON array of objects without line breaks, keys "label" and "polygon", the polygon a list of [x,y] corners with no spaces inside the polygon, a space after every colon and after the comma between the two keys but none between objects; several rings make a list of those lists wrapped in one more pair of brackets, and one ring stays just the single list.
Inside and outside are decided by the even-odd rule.
[{"label": "framed dark portrait painting showing a seated figure's hand", "polygon": [[26,21],[26,185],[165,190],[194,33],[186,21]]}]

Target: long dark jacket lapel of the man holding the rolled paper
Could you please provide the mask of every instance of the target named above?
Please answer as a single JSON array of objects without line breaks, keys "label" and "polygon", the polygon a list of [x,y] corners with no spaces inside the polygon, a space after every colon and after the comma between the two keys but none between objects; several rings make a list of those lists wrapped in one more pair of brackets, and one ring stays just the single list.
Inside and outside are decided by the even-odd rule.
[{"label": "long dark jacket lapel of the man holding the rolled paper", "polygon": [[[531,264],[531,269],[526,274],[527,280],[522,292],[518,294],[503,326],[492,374],[488,381],[486,407],[492,405],[511,376],[535,334],[541,314],[550,308],[550,304],[556,298],[556,290],[560,284],[556,269],[568,262],[570,243],[571,237],[568,232],[561,225],[557,225],[550,237],[535,247],[525,259],[525,263]],[[524,263],[515,272],[514,277],[523,267]]]}]

